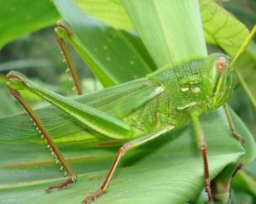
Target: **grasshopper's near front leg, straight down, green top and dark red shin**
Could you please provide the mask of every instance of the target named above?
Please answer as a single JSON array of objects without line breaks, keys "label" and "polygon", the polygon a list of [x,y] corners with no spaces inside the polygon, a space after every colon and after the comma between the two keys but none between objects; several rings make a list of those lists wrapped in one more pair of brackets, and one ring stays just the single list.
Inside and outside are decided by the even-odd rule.
[{"label": "grasshopper's near front leg, straight down, green top and dark red shin", "polygon": [[204,139],[204,133],[201,128],[201,124],[199,122],[199,116],[197,113],[192,113],[191,118],[193,121],[194,129],[195,129],[195,136],[197,144],[201,150],[201,155],[203,158],[204,163],[204,179],[205,179],[205,190],[208,195],[208,203],[213,203],[213,196],[212,196],[212,189],[211,189],[211,180],[210,180],[210,173],[208,167],[208,160],[207,160],[207,144]]}]

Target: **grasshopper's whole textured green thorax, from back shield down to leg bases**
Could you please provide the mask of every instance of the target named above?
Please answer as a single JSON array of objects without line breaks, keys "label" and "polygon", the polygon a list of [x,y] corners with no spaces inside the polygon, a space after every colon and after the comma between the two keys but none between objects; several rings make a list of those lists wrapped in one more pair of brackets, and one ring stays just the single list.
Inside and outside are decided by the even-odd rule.
[{"label": "grasshopper's whole textured green thorax, from back shield down to leg bases", "polygon": [[136,127],[155,131],[173,125],[180,127],[189,120],[191,111],[207,107],[205,60],[196,59],[171,65],[148,75],[164,92],[129,117]]}]

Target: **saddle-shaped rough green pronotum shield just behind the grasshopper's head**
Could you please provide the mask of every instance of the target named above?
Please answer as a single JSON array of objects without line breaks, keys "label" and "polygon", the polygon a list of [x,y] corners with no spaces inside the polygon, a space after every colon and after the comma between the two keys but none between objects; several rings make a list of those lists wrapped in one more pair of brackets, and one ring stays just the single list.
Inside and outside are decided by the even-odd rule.
[{"label": "saddle-shaped rough green pronotum shield just behind the grasshopper's head", "polygon": [[176,111],[205,108],[208,99],[205,77],[205,59],[170,65],[148,75],[164,88],[169,106]]}]

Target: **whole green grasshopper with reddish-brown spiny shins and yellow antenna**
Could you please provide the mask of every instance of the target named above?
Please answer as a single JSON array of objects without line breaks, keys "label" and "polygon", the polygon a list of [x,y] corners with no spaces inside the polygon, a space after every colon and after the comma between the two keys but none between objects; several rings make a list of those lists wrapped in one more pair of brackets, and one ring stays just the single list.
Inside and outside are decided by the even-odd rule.
[{"label": "whole green grasshopper with reddish-brown spiny shins and yellow antenna", "polygon": [[[236,59],[247,47],[255,32],[256,26],[234,59],[230,59],[225,54],[210,54],[207,58],[195,58],[166,65],[146,77],[90,94],[88,102],[84,104],[50,92],[20,73],[10,71],[7,75],[10,93],[29,114],[38,132],[46,140],[51,154],[55,155],[56,162],[61,163],[61,168],[64,168],[65,174],[69,176],[62,184],[49,186],[47,191],[62,189],[68,184],[72,184],[76,181],[77,174],[69,167],[35,112],[22,99],[19,91],[23,89],[37,94],[50,104],[73,116],[82,122],[88,131],[112,139],[130,140],[120,147],[102,186],[87,195],[84,198],[84,204],[96,200],[106,191],[121,157],[128,150],[182,127],[189,119],[194,124],[197,144],[203,158],[204,184],[208,203],[213,203],[207,144],[199,116],[203,112],[216,110],[219,106],[224,105],[231,132],[242,145],[245,145],[244,139],[236,132],[225,100],[229,98],[235,84],[234,65]],[[82,94],[78,76],[62,38],[63,33],[66,33],[68,37],[67,26],[61,23],[55,29],[55,34],[72,73],[75,88],[78,90],[78,94]]]}]

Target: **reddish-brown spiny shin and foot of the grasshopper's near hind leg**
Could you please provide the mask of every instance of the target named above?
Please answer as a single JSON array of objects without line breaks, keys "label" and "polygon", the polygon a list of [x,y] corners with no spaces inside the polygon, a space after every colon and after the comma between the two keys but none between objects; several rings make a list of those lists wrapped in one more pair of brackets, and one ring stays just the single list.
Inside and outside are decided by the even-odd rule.
[{"label": "reddish-brown spiny shin and foot of the grasshopper's near hind leg", "polygon": [[49,133],[44,127],[43,123],[40,122],[35,112],[32,111],[32,108],[26,104],[26,102],[22,99],[21,95],[13,88],[9,87],[10,93],[15,97],[15,99],[20,103],[20,105],[26,110],[27,114],[31,117],[31,121],[34,122],[34,125],[37,127],[38,133],[41,134],[41,138],[47,142],[47,148],[50,151],[51,156],[56,156],[56,164],[61,164],[61,170],[65,169],[64,176],[69,176],[69,178],[61,184],[51,185],[46,190],[46,192],[50,192],[53,189],[62,189],[66,187],[68,184],[73,184],[73,182],[77,179],[77,174],[73,172],[73,169],[68,166],[67,161],[65,161],[64,157],[61,155],[61,151],[54,144],[53,140],[49,137]]}]

